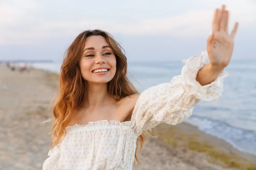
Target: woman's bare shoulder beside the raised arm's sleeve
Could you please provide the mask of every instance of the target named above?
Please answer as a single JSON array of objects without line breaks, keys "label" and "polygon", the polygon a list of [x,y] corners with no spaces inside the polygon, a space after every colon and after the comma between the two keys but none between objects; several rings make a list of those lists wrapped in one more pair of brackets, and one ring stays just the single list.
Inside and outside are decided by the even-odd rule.
[{"label": "woman's bare shoulder beside the raised arm's sleeve", "polygon": [[131,96],[126,96],[119,101],[119,111],[120,113],[123,113],[121,119],[125,121],[131,120],[131,116],[139,96],[140,94],[133,94]]}]

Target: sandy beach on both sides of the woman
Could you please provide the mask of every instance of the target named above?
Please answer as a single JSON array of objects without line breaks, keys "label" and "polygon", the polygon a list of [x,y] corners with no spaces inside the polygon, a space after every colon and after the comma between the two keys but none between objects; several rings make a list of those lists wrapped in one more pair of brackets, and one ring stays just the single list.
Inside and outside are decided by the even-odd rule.
[{"label": "sandy beach on both sides of the woman", "polygon": [[[41,170],[47,159],[49,108],[58,75],[30,69],[20,73],[0,64],[0,170]],[[256,170],[256,156],[240,152],[197,127],[161,124],[134,170]]]}]

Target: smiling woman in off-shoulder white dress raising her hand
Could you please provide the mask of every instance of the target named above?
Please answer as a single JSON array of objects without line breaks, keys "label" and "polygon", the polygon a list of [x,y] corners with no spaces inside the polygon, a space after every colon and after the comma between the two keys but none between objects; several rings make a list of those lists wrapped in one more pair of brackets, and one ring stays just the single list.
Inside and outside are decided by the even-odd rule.
[{"label": "smiling woman in off-shoulder white dress raising her hand", "polygon": [[[216,9],[207,52],[185,61],[181,75],[138,94],[126,77],[120,45],[104,31],[84,31],[67,49],[53,108],[52,144],[43,170],[131,170],[146,130],[191,116],[200,100],[221,97],[233,53],[228,11]],[[209,54],[209,56],[208,56]],[[52,146],[51,144],[51,146]]]}]

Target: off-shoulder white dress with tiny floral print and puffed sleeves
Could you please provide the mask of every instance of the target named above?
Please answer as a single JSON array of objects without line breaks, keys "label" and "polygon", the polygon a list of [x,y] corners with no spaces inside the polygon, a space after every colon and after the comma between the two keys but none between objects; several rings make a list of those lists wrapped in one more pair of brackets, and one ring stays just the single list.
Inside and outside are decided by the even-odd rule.
[{"label": "off-shoulder white dress with tiny floral print and puffed sleeves", "polygon": [[49,150],[43,170],[132,170],[137,137],[160,123],[176,125],[189,118],[200,100],[221,97],[221,73],[214,82],[201,86],[198,71],[209,63],[206,51],[185,60],[180,76],[140,94],[131,121],[99,120],[66,127],[61,144]]}]

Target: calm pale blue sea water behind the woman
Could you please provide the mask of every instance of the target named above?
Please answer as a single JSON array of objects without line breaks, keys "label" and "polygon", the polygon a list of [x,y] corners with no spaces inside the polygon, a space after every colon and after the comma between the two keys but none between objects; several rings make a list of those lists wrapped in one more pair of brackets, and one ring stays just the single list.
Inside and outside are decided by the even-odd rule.
[{"label": "calm pale blue sea water behind the woman", "polygon": [[[59,73],[60,63],[35,63],[31,66]],[[170,82],[179,75],[181,61],[128,62],[128,77],[137,89]],[[237,149],[256,155],[256,60],[232,60],[225,68],[221,99],[199,102],[186,122],[224,139]]]}]

